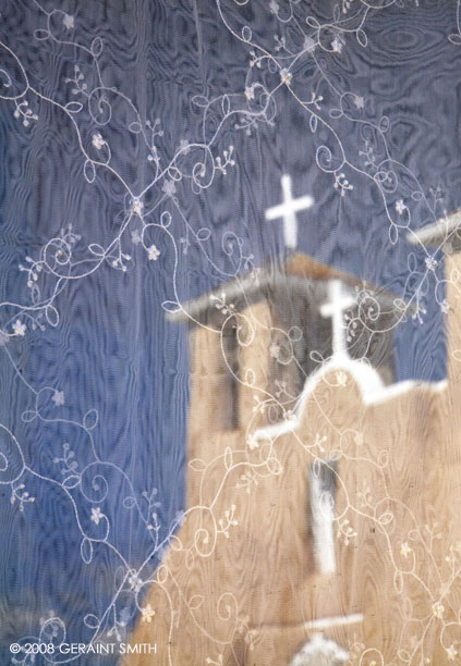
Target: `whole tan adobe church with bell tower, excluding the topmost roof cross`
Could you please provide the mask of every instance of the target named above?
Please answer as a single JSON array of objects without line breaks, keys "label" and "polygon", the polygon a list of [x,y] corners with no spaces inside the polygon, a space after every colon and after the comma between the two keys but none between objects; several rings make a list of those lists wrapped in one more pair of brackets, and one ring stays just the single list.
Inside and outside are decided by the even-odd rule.
[{"label": "whole tan adobe church with bell tower, excluding the topmost roof cross", "polygon": [[303,255],[175,316],[187,497],[131,637],[156,642],[153,664],[461,658],[460,286],[440,384],[395,381],[401,304]]}]

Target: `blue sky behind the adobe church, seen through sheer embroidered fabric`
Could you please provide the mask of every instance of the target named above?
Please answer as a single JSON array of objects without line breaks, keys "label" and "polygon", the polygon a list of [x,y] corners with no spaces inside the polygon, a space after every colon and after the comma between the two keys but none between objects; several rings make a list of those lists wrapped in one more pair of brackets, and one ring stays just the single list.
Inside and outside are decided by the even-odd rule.
[{"label": "blue sky behind the adobe church, seen through sheer embroidered fabric", "polygon": [[3,0],[2,664],[40,631],[133,625],[184,505],[187,331],[166,309],[283,257],[282,174],[315,199],[300,250],[420,308],[399,379],[445,377],[440,255],[407,227],[460,203],[458,20],[452,0]]}]

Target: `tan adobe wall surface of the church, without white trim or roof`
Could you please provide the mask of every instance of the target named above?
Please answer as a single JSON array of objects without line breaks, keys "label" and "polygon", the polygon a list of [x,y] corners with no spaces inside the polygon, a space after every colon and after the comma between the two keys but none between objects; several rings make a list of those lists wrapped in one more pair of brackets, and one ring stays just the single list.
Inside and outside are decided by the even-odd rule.
[{"label": "tan adobe wall surface of the church, without white trim or roof", "polygon": [[[238,383],[239,428],[229,427],[226,411],[233,394],[219,326],[191,333],[186,518],[148,592],[154,622],[139,620],[132,637],[155,636],[157,663],[198,666],[221,654],[223,666],[287,666],[312,637],[307,620],[363,614],[359,624],[325,632],[350,651],[352,664],[360,663],[354,650],[369,650],[376,663],[390,663],[398,649],[418,654],[414,627],[426,622],[424,654],[448,665],[434,614],[454,621],[461,602],[447,559],[461,543],[461,362],[453,354],[461,349],[461,298],[452,285],[449,299],[446,391],[415,386],[365,406],[352,377],[338,381],[335,371],[315,387],[294,432],[254,449],[247,434],[267,418],[254,411],[254,396],[264,399],[274,361],[268,303],[242,311],[254,335],[242,324],[247,344],[238,365],[248,385]],[[308,470],[328,459],[338,470],[337,569],[325,576],[314,560]],[[136,656],[128,664],[144,666]]]}]

